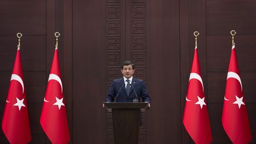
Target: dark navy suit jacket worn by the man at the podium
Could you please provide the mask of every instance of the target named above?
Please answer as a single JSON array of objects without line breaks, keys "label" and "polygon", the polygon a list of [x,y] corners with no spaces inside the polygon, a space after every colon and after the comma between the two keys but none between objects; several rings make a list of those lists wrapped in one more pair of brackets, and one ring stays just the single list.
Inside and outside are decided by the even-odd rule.
[{"label": "dark navy suit jacket worn by the man at the podium", "polygon": [[127,95],[123,77],[119,79],[114,79],[110,86],[106,102],[114,102],[114,99],[116,98],[119,90],[119,95],[116,98],[116,102],[118,103],[133,103],[133,98],[136,98],[135,91],[137,94],[138,101],[140,101],[140,98],[142,98],[143,102],[151,102],[148,90],[146,89],[146,85],[141,79],[136,79],[133,77],[132,85],[134,87],[134,90],[133,87],[131,87],[129,95]]}]

